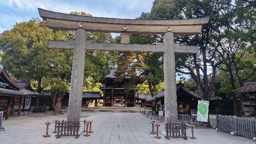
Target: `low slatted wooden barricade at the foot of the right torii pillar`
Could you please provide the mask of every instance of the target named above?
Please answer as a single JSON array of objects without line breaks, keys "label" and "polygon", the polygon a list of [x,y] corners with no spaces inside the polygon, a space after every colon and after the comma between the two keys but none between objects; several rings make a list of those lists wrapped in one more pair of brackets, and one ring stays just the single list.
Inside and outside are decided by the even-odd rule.
[{"label": "low slatted wooden barricade at the foot of the right torii pillar", "polygon": [[183,138],[184,140],[188,140],[188,136],[186,134],[186,124],[185,123],[166,123],[166,139],[170,138]]}]

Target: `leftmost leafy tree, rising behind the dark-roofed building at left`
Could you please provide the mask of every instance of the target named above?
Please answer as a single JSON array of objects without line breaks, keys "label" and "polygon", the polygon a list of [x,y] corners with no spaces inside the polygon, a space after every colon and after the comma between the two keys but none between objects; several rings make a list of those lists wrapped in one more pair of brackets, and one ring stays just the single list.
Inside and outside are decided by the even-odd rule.
[{"label": "leftmost leafy tree, rising behind the dark-roofed building at left", "polygon": [[[66,40],[60,33],[54,33],[46,23],[37,18],[14,25],[0,35],[0,48],[6,69],[18,79],[35,80],[37,92],[41,93],[42,78],[51,70],[48,56],[56,50],[48,50],[48,40]],[[33,112],[38,112],[39,97]]]}]

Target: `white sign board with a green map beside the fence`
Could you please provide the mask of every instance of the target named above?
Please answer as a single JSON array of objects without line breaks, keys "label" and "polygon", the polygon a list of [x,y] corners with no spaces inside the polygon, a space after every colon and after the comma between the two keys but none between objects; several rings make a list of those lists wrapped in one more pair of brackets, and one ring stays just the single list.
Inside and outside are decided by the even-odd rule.
[{"label": "white sign board with a green map beside the fence", "polygon": [[197,121],[208,122],[209,101],[198,100]]}]

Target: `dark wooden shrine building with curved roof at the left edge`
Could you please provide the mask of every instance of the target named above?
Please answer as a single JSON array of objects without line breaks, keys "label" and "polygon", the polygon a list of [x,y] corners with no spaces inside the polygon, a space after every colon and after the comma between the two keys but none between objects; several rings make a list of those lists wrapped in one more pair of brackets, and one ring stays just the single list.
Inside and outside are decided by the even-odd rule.
[{"label": "dark wooden shrine building with curved roof at the left edge", "polygon": [[32,90],[29,82],[13,80],[5,69],[0,70],[0,111],[4,111],[6,120],[14,110],[20,116],[21,109],[30,107],[31,97],[40,95]]}]

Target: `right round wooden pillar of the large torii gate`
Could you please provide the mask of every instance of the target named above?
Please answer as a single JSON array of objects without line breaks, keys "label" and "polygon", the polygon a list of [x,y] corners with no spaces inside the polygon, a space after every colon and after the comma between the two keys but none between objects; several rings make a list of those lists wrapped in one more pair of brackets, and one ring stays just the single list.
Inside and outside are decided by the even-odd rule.
[{"label": "right round wooden pillar of the large torii gate", "polygon": [[178,123],[176,72],[173,33],[164,33],[164,104],[165,121]]}]

